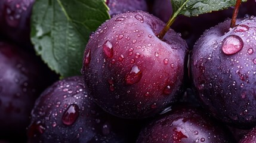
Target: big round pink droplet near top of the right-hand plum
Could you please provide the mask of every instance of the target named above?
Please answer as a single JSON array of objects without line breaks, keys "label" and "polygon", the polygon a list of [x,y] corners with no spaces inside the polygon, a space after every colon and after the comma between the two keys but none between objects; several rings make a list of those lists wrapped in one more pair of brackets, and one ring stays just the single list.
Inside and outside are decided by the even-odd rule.
[{"label": "big round pink droplet near top of the right-hand plum", "polygon": [[222,51],[227,55],[236,54],[243,48],[243,41],[239,36],[230,35],[223,40]]}]

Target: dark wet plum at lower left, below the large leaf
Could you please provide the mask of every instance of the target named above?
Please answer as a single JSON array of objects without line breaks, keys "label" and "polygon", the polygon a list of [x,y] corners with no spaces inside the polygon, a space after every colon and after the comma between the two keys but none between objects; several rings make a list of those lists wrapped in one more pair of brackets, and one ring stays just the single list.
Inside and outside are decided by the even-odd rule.
[{"label": "dark wet plum at lower left, below the large leaf", "polygon": [[73,76],[41,94],[28,136],[29,142],[134,142],[137,128],[131,123],[105,113],[88,97],[82,76]]}]

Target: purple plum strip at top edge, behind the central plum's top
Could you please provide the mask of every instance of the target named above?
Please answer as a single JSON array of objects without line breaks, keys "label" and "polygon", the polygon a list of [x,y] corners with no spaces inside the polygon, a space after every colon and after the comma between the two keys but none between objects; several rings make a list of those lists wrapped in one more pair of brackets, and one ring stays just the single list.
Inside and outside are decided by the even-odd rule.
[{"label": "purple plum strip at top edge, behind the central plum's top", "polygon": [[111,17],[126,11],[147,11],[146,0],[107,0],[106,4],[109,7],[109,14]]}]

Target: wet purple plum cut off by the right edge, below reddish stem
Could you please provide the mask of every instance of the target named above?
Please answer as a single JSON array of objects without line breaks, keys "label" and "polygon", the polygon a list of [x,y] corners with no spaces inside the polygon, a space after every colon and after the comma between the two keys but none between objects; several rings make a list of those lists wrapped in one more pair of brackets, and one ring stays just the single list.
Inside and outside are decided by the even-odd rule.
[{"label": "wet purple plum cut off by the right edge, below reddish stem", "polygon": [[[190,66],[203,105],[225,123],[251,128],[256,123],[256,18],[238,19],[237,24],[229,30],[227,20],[206,31],[193,48]],[[231,44],[243,46],[227,55],[224,38],[230,35],[240,39]]]}]

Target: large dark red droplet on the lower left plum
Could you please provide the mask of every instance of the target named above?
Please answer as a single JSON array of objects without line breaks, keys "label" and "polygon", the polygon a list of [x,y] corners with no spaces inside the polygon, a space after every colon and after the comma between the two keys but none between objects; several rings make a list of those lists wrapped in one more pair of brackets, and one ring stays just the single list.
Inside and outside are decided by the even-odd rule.
[{"label": "large dark red droplet on the lower left plum", "polygon": [[79,116],[79,107],[76,104],[71,104],[67,108],[66,111],[64,111],[62,116],[62,123],[64,125],[72,125],[75,123],[76,119],[78,119]]}]

